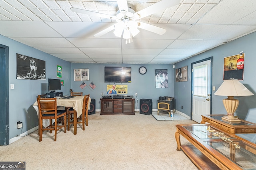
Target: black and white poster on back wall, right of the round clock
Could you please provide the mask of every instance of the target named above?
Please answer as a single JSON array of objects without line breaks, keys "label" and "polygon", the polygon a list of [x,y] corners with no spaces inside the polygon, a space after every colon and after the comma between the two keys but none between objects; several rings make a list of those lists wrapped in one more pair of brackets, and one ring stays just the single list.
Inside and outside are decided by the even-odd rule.
[{"label": "black and white poster on back wall, right of the round clock", "polygon": [[155,87],[168,88],[167,69],[155,69]]}]

